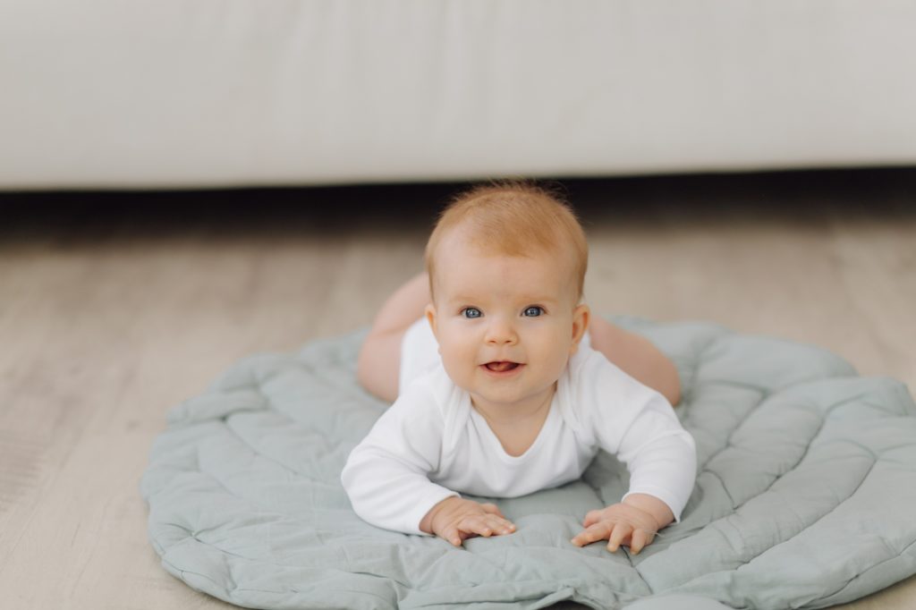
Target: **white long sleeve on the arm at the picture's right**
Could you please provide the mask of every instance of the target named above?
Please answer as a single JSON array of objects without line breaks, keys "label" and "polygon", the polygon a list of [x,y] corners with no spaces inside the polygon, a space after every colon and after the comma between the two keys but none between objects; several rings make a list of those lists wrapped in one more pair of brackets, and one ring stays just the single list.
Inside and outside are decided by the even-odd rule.
[{"label": "white long sleeve on the arm at the picture's right", "polygon": [[680,521],[696,479],[696,446],[668,400],[600,354],[584,358],[578,375],[583,423],[627,464],[626,496],[655,496]]}]

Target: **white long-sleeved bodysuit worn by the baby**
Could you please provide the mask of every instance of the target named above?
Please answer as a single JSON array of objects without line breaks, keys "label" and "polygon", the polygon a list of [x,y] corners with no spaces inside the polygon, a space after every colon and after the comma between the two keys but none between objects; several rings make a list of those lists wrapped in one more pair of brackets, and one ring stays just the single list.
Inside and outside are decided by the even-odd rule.
[{"label": "white long-sleeved bodysuit worn by the baby", "polygon": [[456,492],[516,497],[562,485],[578,479],[603,449],[627,463],[627,495],[655,496],[680,519],[696,476],[696,450],[658,392],[583,341],[557,381],[537,439],[512,456],[470,395],[446,375],[430,337],[425,320],[405,335],[401,394],[344,466],[341,479],[359,517],[421,534],[420,520]]}]

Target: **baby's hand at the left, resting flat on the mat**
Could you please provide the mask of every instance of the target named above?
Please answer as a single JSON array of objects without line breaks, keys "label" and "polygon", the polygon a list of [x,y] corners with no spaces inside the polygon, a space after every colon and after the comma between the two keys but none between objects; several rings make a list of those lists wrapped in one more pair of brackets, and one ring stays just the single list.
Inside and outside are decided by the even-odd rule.
[{"label": "baby's hand at the left, resting flat on the mat", "polygon": [[420,529],[460,547],[465,539],[511,534],[516,528],[495,504],[452,496],[430,509],[420,521]]}]

